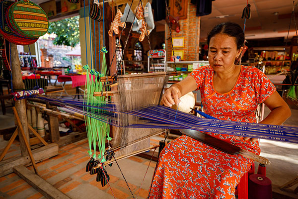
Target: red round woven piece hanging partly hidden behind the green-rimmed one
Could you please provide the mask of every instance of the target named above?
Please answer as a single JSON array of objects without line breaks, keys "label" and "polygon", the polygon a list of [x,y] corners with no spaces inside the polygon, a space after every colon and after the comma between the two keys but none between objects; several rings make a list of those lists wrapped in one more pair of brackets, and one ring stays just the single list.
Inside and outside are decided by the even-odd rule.
[{"label": "red round woven piece hanging partly hidden behind the green-rimmed one", "polygon": [[29,45],[35,43],[37,39],[21,37],[15,34],[8,26],[5,13],[8,7],[13,3],[14,1],[10,0],[0,2],[0,34],[2,34],[7,41],[17,45]]}]

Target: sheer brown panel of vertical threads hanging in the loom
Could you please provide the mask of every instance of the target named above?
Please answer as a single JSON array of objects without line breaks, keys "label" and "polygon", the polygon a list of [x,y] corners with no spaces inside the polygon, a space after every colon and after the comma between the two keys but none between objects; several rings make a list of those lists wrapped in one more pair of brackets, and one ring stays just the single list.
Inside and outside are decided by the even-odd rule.
[{"label": "sheer brown panel of vertical threads hanging in the loom", "polygon": [[[149,78],[144,78],[143,76],[138,77],[138,75],[118,76],[119,93],[113,96],[117,111],[127,112],[146,107],[150,104],[157,105],[167,80],[168,76],[166,76],[165,73],[159,73],[159,75],[154,75]],[[140,121],[140,117],[125,113],[119,113],[116,120],[116,124],[123,127],[142,122]],[[131,146],[115,152],[115,157],[148,148],[150,145],[149,139],[145,138],[163,132],[162,129],[157,128],[145,129],[123,127],[117,127],[115,133],[113,132],[112,148],[127,145]]]}]

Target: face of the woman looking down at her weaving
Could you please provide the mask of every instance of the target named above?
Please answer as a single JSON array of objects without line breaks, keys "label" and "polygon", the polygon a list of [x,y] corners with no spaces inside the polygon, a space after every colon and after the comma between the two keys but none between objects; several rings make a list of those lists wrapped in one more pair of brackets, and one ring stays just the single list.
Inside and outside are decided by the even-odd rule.
[{"label": "face of the woman looking down at her weaving", "polygon": [[219,33],[210,39],[208,60],[216,72],[234,69],[235,58],[240,55],[243,47],[237,50],[236,39],[227,34]]}]

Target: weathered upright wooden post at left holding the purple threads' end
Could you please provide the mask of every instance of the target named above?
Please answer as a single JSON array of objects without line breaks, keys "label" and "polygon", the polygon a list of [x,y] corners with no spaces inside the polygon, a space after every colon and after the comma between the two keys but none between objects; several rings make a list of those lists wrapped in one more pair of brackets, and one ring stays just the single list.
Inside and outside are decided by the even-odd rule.
[{"label": "weathered upright wooden post at left holding the purple threads' end", "polygon": [[[16,45],[13,43],[10,43],[10,49],[11,49],[11,73],[12,73],[13,90],[14,91],[24,90],[25,86],[22,81],[21,67],[20,67],[20,61],[19,61],[19,56],[18,56]],[[15,108],[19,114],[19,118],[21,120],[21,124],[22,124],[23,130],[24,130],[24,133],[25,133],[25,137],[26,137],[27,141],[29,142],[29,130],[28,130],[27,111],[26,111],[25,100],[16,100]],[[21,155],[28,156],[25,141],[23,140],[23,137],[21,136],[20,128],[18,128],[18,135],[19,135],[19,140],[20,140]]]}]

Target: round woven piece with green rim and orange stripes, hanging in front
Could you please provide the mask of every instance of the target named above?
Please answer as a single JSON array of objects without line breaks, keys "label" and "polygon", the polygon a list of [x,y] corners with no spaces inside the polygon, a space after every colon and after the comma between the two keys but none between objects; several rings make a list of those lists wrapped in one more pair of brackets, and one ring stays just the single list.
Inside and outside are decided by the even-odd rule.
[{"label": "round woven piece with green rim and orange stripes, hanging in front", "polygon": [[29,0],[13,3],[6,11],[8,24],[14,32],[29,38],[38,38],[47,33],[49,20],[45,11]]}]

